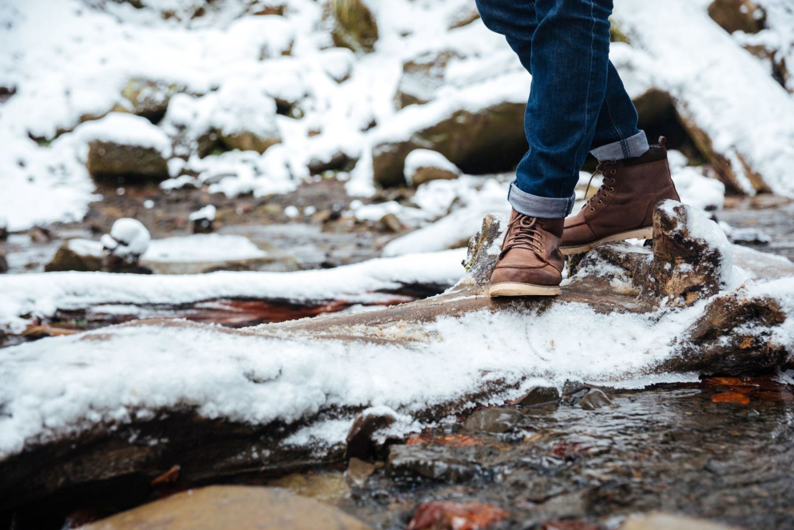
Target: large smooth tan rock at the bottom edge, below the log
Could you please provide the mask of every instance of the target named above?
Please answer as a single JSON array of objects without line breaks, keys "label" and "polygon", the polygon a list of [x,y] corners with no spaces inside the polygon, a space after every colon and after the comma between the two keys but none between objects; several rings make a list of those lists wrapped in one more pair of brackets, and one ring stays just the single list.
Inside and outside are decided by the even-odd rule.
[{"label": "large smooth tan rock at the bottom edge, below the log", "polygon": [[84,530],[366,530],[360,520],[329,505],[272,488],[209,486],[88,524]]}]

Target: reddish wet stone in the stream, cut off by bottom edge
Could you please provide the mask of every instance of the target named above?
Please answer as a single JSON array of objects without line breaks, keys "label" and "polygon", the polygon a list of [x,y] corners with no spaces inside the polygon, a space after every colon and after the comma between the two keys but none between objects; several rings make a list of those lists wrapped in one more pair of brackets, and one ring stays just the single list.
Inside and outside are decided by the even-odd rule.
[{"label": "reddish wet stone in the stream, cut off by bottom edge", "polygon": [[483,530],[507,517],[498,506],[479,502],[426,502],[416,509],[407,530]]}]

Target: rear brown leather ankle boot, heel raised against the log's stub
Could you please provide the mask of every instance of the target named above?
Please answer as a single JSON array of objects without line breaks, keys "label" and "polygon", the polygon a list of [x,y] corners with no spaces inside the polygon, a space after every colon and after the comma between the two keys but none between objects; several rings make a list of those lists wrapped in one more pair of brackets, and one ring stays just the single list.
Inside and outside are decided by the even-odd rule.
[{"label": "rear brown leather ankle boot, heel raised against the log's stub", "polygon": [[579,213],[565,219],[560,246],[564,254],[587,252],[611,241],[648,239],[653,234],[653,207],[664,199],[680,200],[670,178],[665,137],[642,157],[599,162],[596,172],[603,175],[601,188]]}]

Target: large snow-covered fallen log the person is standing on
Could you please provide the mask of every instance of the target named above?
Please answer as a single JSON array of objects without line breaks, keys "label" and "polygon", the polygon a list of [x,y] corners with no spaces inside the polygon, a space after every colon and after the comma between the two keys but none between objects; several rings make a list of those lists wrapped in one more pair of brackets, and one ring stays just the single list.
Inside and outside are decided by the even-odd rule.
[{"label": "large snow-covered fallen log the person is standing on", "polygon": [[[0,350],[0,509],[97,484],[148,492],[174,466],[191,486],[341,460],[359,415],[391,418],[372,429],[383,439],[541,382],[642,386],[783,366],[790,262],[745,250],[731,265],[738,247],[715,248],[711,221],[676,203],[654,221],[653,250],[599,246],[553,298],[484,295],[503,237],[488,216],[468,274],[441,296],[242,330],[139,321]],[[719,267],[696,268],[717,253]],[[719,291],[646,288],[649,270],[679,258]],[[753,280],[754,267],[769,276]]]}]

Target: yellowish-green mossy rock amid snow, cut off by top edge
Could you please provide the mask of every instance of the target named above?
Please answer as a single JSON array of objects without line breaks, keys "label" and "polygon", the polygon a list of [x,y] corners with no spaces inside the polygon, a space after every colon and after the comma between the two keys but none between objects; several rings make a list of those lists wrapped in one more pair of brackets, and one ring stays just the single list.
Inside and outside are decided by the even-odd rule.
[{"label": "yellowish-green mossy rock amid snow, cut off by top edge", "polygon": [[333,44],[353,52],[372,52],[378,40],[378,25],[364,0],[345,0],[326,4]]}]

